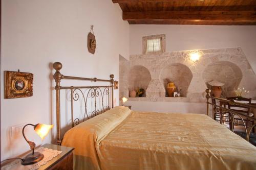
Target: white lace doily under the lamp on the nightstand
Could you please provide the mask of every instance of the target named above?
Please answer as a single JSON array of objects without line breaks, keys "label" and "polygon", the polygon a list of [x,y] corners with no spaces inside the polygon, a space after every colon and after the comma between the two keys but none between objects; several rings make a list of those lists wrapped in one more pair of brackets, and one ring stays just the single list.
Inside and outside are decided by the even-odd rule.
[{"label": "white lace doily under the lamp on the nightstand", "polygon": [[[2,167],[2,170],[14,170],[14,169],[20,169],[20,170],[35,170],[38,169],[41,165],[46,164],[48,161],[52,160],[54,157],[56,157],[58,154],[62,153],[62,151],[52,150],[44,147],[40,147],[35,149],[35,152],[40,152],[44,155],[44,159],[41,161],[32,164],[32,165],[22,165],[21,160],[15,160],[11,163],[7,164],[6,166]],[[26,156],[24,156],[26,157]]]}]

